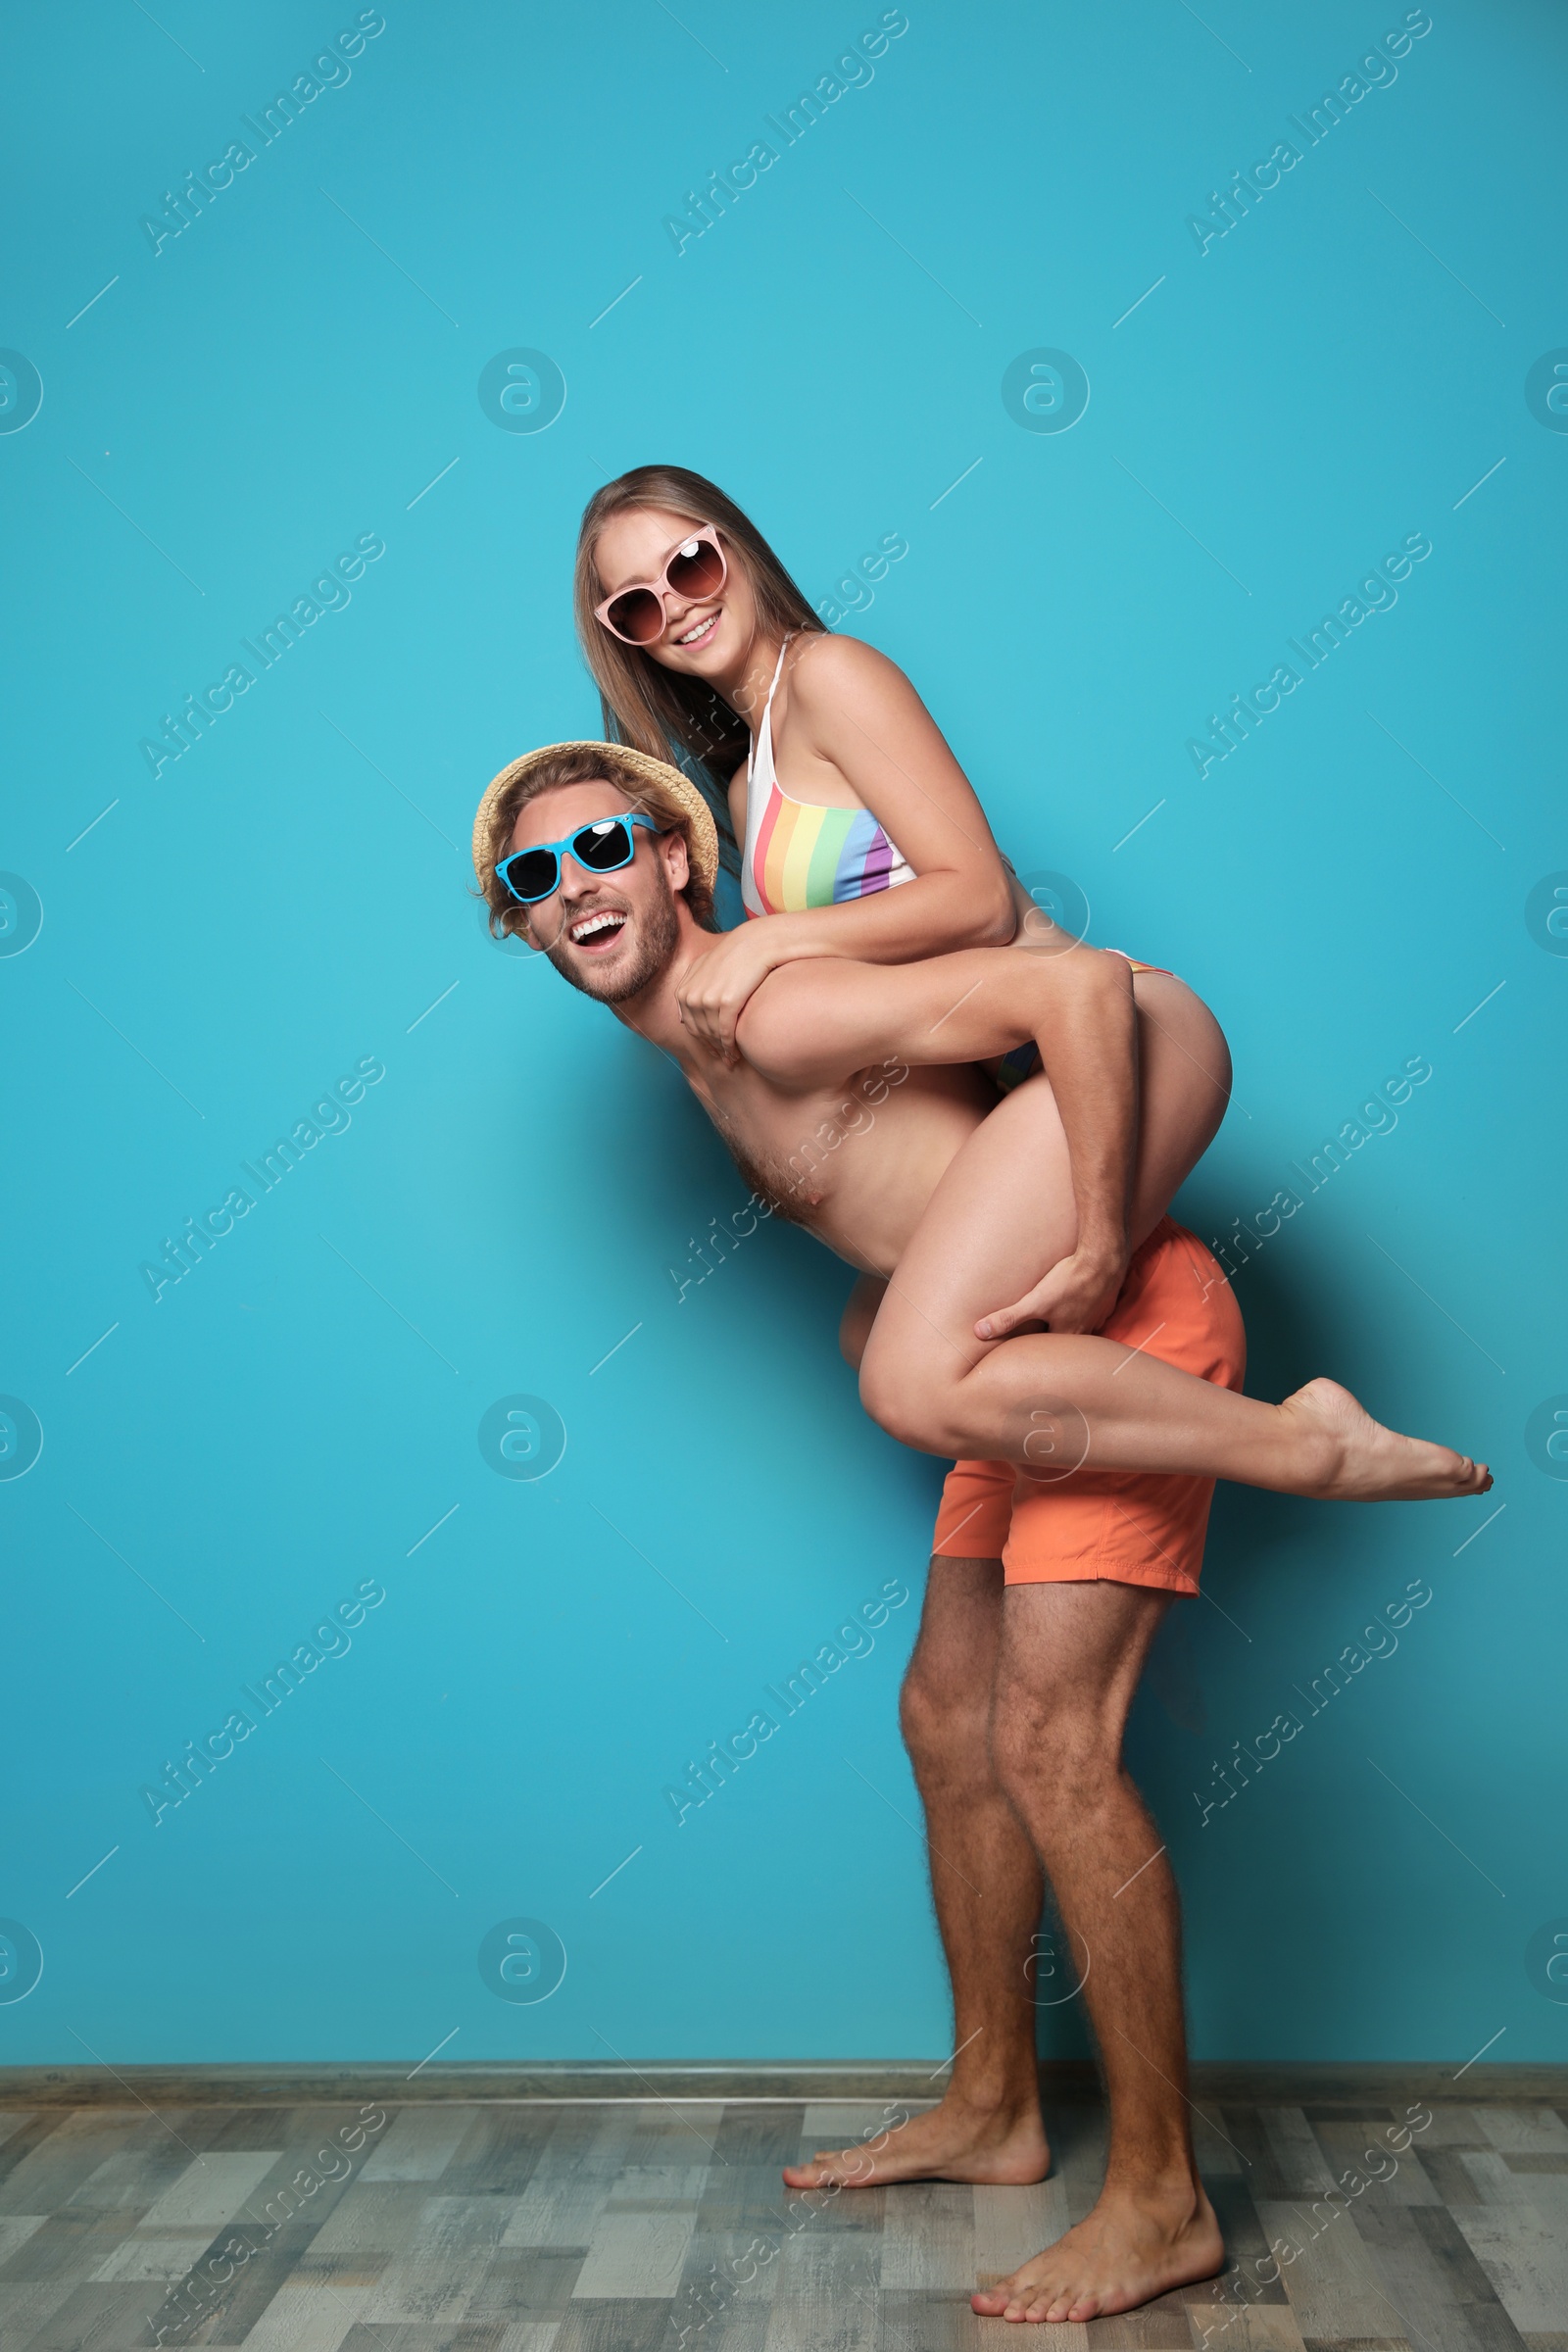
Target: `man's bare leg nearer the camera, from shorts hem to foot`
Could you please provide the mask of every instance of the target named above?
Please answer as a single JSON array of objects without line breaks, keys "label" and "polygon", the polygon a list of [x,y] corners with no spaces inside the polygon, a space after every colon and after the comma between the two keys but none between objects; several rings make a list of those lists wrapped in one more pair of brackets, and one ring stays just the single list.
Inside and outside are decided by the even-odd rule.
[{"label": "man's bare leg nearer the camera, from shorts hem to foot", "polygon": [[1175,1882],[1121,1762],[1126,1710],[1168,1604],[1168,1592],[1124,1583],[1006,1590],[997,1773],[1046,1865],[1074,1959],[1088,1966],[1110,2154],[1093,2213],[978,2293],[983,2317],[1124,2312],[1225,2260],[1187,2124]]}]

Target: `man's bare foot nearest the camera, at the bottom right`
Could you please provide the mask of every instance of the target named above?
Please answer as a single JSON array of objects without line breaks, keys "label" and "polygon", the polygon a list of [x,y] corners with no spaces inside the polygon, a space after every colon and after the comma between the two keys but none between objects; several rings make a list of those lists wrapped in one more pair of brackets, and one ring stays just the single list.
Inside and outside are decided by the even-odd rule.
[{"label": "man's bare foot nearest the camera, at the bottom right", "polygon": [[969,2303],[983,2319],[1098,2319],[1211,2279],[1222,2265],[1225,2239],[1201,2187],[1105,2187],[1056,2246]]}]

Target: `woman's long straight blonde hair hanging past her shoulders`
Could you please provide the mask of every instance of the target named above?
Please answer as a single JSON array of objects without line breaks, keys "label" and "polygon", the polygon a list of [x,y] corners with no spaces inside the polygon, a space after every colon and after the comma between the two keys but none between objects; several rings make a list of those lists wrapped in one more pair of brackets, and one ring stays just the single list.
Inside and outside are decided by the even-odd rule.
[{"label": "woman's long straight blonde hair hanging past her shoulders", "polygon": [[799,630],[823,635],[823,621],[811,612],[771,546],[717,482],[684,466],[632,466],[630,473],[595,489],[583,508],[578,532],[574,612],[583,659],[592,670],[604,713],[604,736],[630,743],[656,760],[672,760],[701,788],[719,826],[719,854],[736,868],[729,823],[729,779],[745,757],[748,722],[705,687],[701,677],[665,670],[637,644],[611,637],[595,619],[604,602],[604,581],[595,562],[599,532],[611,515],[656,506],[682,522],[710,522],[724,539],[731,564],[743,564],[757,600],[762,626],[780,637]]}]

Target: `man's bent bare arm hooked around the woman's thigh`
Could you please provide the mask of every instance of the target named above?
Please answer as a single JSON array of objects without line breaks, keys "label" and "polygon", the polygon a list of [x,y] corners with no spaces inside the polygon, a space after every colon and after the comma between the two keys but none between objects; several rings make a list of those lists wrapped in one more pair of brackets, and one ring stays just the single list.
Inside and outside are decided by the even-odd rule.
[{"label": "man's bent bare arm hooked around the woman's thigh", "polygon": [[1051,1329],[1093,1331],[1128,1261],[1138,1145],[1138,1014],[1121,955],[1063,941],[971,948],[924,964],[783,964],[741,1014],[745,1061],[785,1091],[830,1087],[875,1061],[990,1061],[1030,1040],[1067,1134],[1079,1240],[1053,1282]]}]

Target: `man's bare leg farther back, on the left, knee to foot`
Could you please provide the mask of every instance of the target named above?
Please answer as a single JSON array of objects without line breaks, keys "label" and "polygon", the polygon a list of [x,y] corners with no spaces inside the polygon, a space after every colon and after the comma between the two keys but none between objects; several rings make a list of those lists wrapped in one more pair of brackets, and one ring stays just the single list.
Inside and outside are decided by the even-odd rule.
[{"label": "man's bare leg farther back, on the left, knee to foot", "polygon": [[999,1635],[1001,1562],[933,1557],[900,1715],[926,1806],[931,1893],[952,1978],[957,2056],[947,2093],[879,2145],[785,2166],[790,2187],[1046,2178],[1025,1976],[1041,1877],[990,1757]]}]

